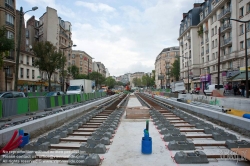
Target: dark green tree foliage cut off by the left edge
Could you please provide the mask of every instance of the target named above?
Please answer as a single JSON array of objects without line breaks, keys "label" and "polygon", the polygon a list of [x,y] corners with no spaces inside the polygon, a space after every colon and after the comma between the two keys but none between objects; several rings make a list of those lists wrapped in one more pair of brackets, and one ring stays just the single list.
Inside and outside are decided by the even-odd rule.
[{"label": "dark green tree foliage cut off by the left edge", "polygon": [[3,26],[0,28],[0,68],[3,66],[3,59],[9,55],[9,51],[14,49],[15,44],[13,39],[8,39],[7,30]]}]

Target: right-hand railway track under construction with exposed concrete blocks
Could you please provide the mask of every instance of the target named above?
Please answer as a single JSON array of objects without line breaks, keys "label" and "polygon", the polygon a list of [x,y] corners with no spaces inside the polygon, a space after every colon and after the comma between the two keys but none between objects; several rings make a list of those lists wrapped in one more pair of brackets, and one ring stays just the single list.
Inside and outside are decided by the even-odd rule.
[{"label": "right-hand railway track under construction with exposed concrete blocks", "polygon": [[250,143],[239,140],[235,133],[229,133],[153,97],[144,94],[136,96],[151,108],[154,125],[176,163],[201,164],[215,160],[234,160],[243,165],[250,164],[246,156],[235,153],[237,148],[243,148],[246,154]]}]

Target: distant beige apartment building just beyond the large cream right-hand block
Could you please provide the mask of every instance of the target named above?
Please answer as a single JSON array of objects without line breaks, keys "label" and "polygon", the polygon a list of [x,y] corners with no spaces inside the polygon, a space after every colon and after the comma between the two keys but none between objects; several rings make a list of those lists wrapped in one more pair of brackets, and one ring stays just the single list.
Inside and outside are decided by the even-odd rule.
[{"label": "distant beige apartment building just beyond the large cream right-hand block", "polygon": [[164,48],[155,60],[155,85],[156,88],[169,87],[175,78],[170,77],[170,69],[176,57],[180,55],[179,47]]}]

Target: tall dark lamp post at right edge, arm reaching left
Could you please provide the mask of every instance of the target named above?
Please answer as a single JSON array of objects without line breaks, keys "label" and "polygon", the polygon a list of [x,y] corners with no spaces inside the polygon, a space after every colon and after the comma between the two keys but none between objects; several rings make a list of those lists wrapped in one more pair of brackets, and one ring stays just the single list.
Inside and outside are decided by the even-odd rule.
[{"label": "tall dark lamp post at right edge, arm reaching left", "polygon": [[241,21],[241,20],[237,20],[237,19],[229,19],[229,20],[233,20],[236,22],[241,22],[245,24],[245,63],[246,63],[246,98],[249,98],[249,87],[248,87],[248,57],[247,57],[247,23],[250,22],[250,20],[248,21]]}]

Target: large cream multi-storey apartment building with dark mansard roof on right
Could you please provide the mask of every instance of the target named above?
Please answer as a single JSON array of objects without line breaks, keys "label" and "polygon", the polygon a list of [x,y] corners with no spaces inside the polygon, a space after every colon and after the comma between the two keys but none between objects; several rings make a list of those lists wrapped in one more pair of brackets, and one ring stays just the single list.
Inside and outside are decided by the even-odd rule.
[{"label": "large cream multi-storey apartment building with dark mansard roof on right", "polygon": [[[232,84],[230,78],[239,74],[240,68],[245,67],[244,33],[248,36],[249,54],[250,23],[247,24],[247,32],[244,32],[244,24],[230,18],[247,21],[250,20],[249,13],[248,0],[205,0],[194,4],[193,9],[183,14],[178,38],[182,56],[180,70],[181,78],[185,79],[189,69],[191,88],[204,89],[207,85],[218,82],[218,56],[220,84]],[[191,47],[186,49],[189,44]],[[192,47],[193,44],[196,47]]]}]

